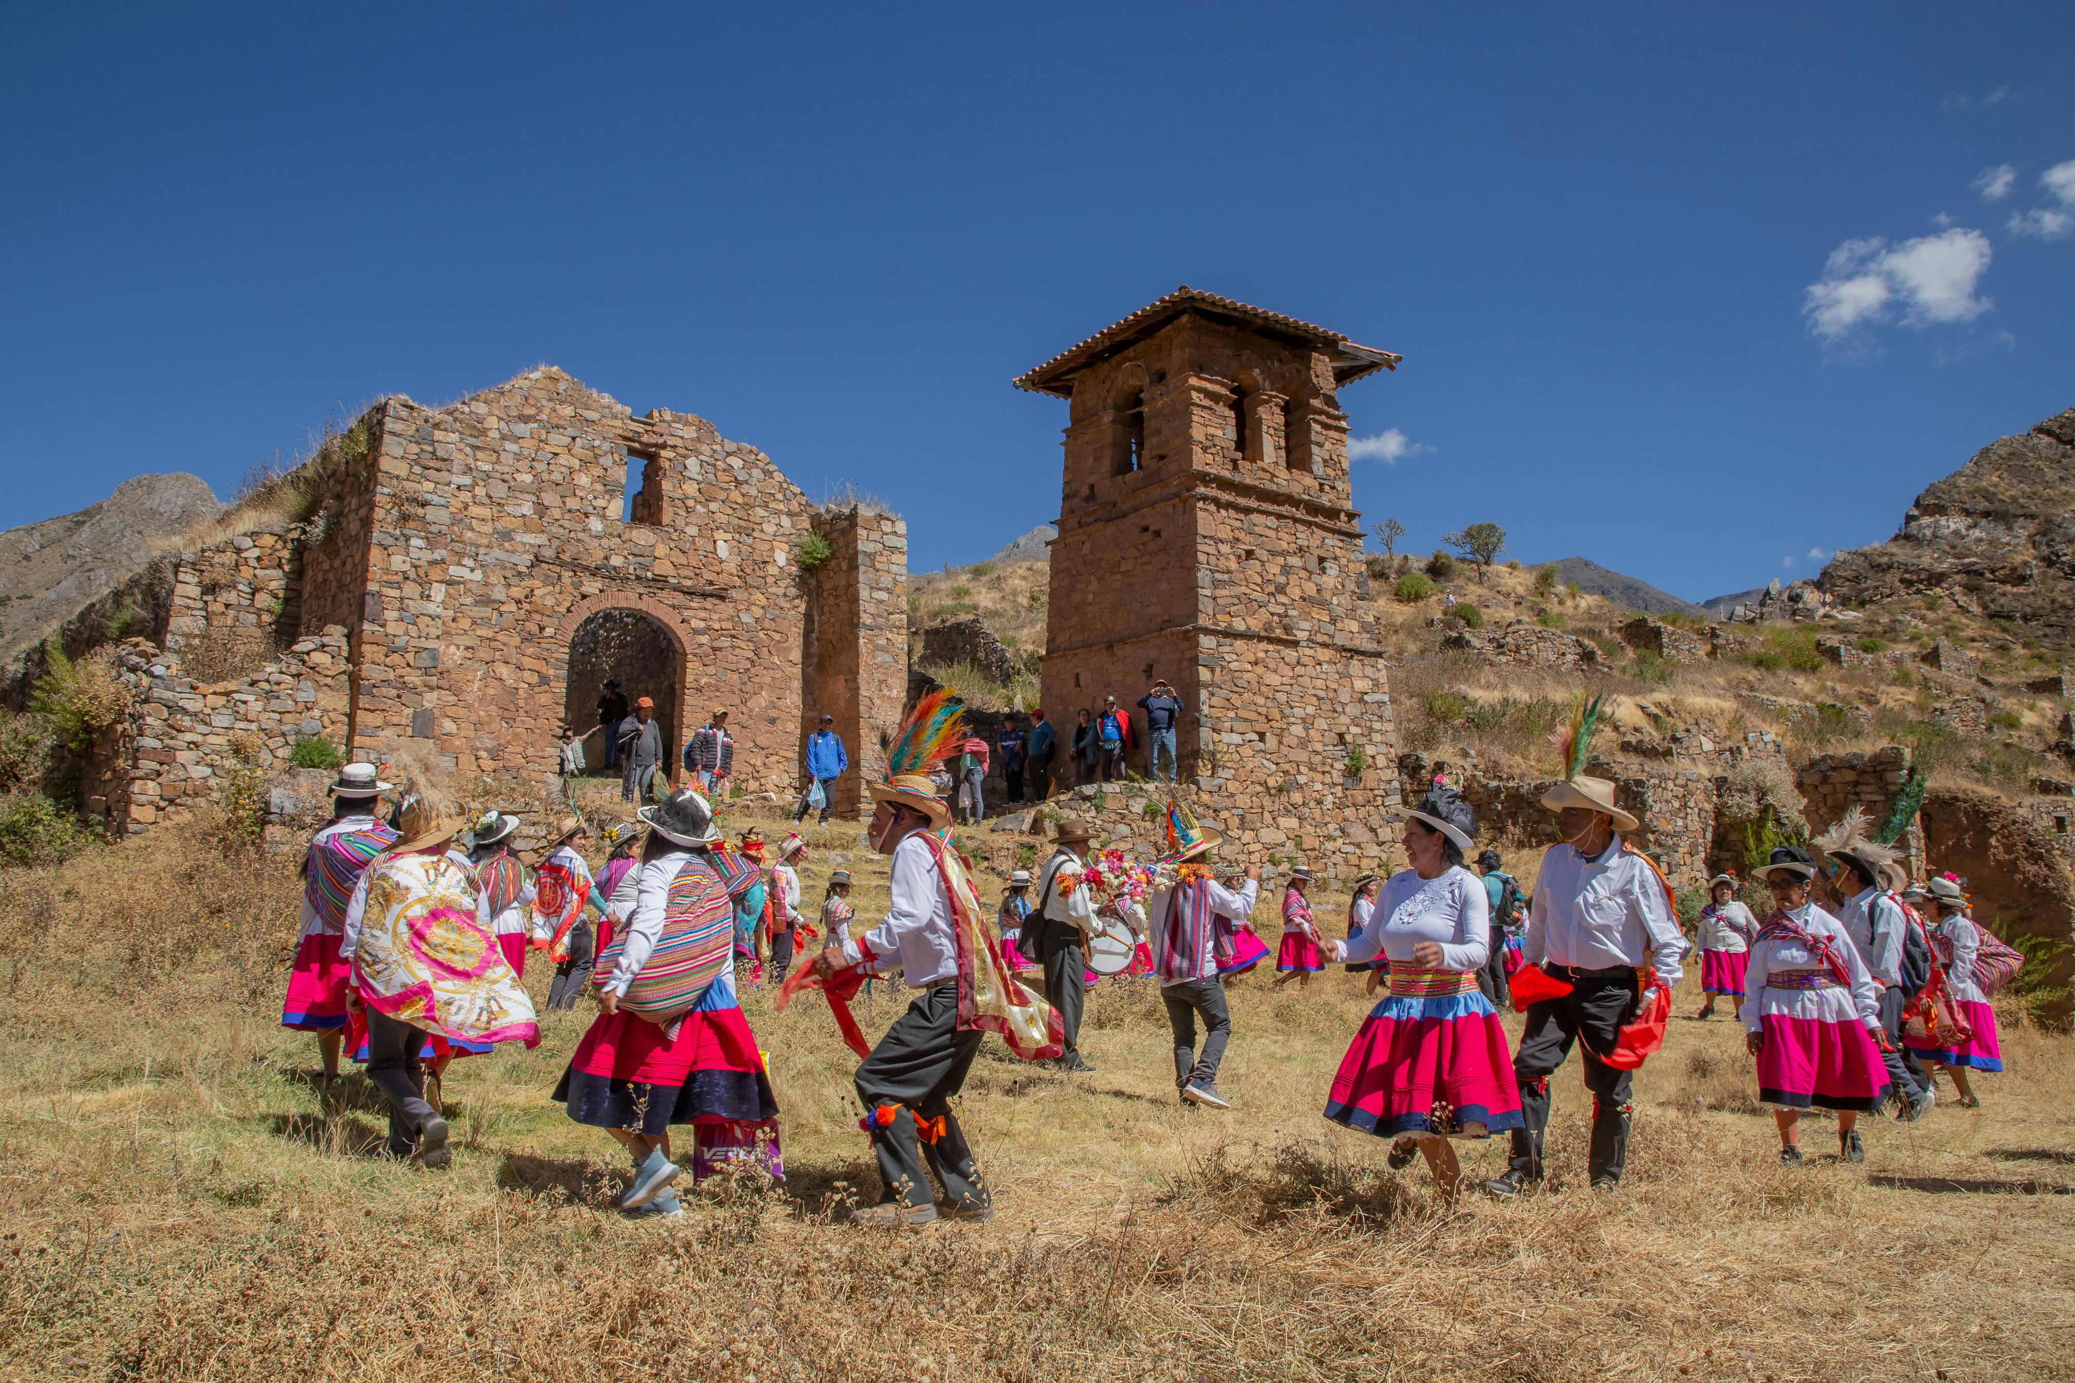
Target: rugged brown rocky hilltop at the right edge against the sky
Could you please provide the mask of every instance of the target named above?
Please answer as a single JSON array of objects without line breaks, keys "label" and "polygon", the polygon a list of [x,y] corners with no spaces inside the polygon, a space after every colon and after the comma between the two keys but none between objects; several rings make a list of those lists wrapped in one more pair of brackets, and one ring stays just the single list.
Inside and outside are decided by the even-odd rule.
[{"label": "rugged brown rocky hilltop at the right edge against the sky", "polygon": [[1818,585],[1868,610],[1932,597],[2075,649],[2075,408],[1984,446],[1892,539],[1836,554]]}]

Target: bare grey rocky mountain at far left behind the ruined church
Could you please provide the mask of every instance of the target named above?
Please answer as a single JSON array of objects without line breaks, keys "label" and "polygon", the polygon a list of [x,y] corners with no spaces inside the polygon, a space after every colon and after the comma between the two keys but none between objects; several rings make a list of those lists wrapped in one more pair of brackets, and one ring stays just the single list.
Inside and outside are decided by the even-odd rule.
[{"label": "bare grey rocky mountain at far left behind the ruined church", "polygon": [[216,518],[222,504],[195,475],[139,475],[77,514],[0,533],[0,664],[100,599],[154,543]]}]

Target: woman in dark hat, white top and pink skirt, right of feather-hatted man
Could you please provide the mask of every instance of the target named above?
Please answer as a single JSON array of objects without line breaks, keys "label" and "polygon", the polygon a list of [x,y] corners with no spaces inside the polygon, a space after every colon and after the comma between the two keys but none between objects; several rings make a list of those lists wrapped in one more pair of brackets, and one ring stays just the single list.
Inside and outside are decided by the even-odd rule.
[{"label": "woman in dark hat, white top and pink skirt, right of feather-hatted man", "polygon": [[1780,1165],[1801,1165],[1801,1111],[1836,1109],[1843,1161],[1865,1161],[1857,1122],[1888,1097],[1880,1055],[1880,989],[1843,923],[1809,902],[1816,860],[1780,846],[1758,871],[1772,916],[1751,941],[1745,1045],[1758,1057],[1758,1099],[1772,1105]]}]

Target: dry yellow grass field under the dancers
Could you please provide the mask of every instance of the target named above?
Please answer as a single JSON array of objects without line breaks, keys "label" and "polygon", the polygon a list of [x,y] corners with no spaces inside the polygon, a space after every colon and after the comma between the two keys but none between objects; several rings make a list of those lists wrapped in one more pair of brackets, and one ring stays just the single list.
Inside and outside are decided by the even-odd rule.
[{"label": "dry yellow grass field under the dancers", "polygon": [[[813,840],[818,898],[859,834]],[[1863,1167],[1811,1122],[1780,1172],[1735,1024],[1681,1018],[1619,1194],[1583,1188],[1562,1072],[1550,1188],[1448,1207],[1320,1120],[1355,977],[1235,987],[1230,1113],[1179,1107],[1154,989],[1104,985],[1094,1076],[992,1039],[973,1068],[998,1219],[874,1232],[840,1223],[876,1198],[853,1057],[820,999],[751,991],[786,1184],[631,1225],[620,1155],[548,1099],[581,1012],[457,1062],[444,1174],[376,1155],[359,1078],[322,1107],[315,1041],[276,1022],[295,898],[293,863],[201,831],[0,875],[0,1379],[2075,1377],[2067,1037],[2009,1033],[1980,1111],[1870,1126]]]}]

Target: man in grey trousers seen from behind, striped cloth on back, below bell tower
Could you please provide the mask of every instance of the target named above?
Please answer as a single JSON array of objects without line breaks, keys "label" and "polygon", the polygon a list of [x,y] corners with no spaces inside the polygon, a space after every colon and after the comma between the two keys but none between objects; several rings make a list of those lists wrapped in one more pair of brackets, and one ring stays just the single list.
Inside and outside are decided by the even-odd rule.
[{"label": "man in grey trousers seen from behind, striped cloth on back, below bell tower", "polygon": [[[1195,840],[1174,856],[1174,871],[1189,860],[1208,863],[1220,836],[1193,827]],[[1262,890],[1262,867],[1247,865],[1247,883],[1237,894],[1216,879],[1181,879],[1154,892],[1152,952],[1160,975],[1160,1001],[1174,1031],[1174,1089],[1181,1103],[1230,1109],[1218,1093],[1218,1062],[1233,1037],[1233,1014],[1218,979],[1218,919],[1243,923],[1253,914]],[[1204,1055],[1195,1053],[1195,1020],[1204,1018]]]}]

